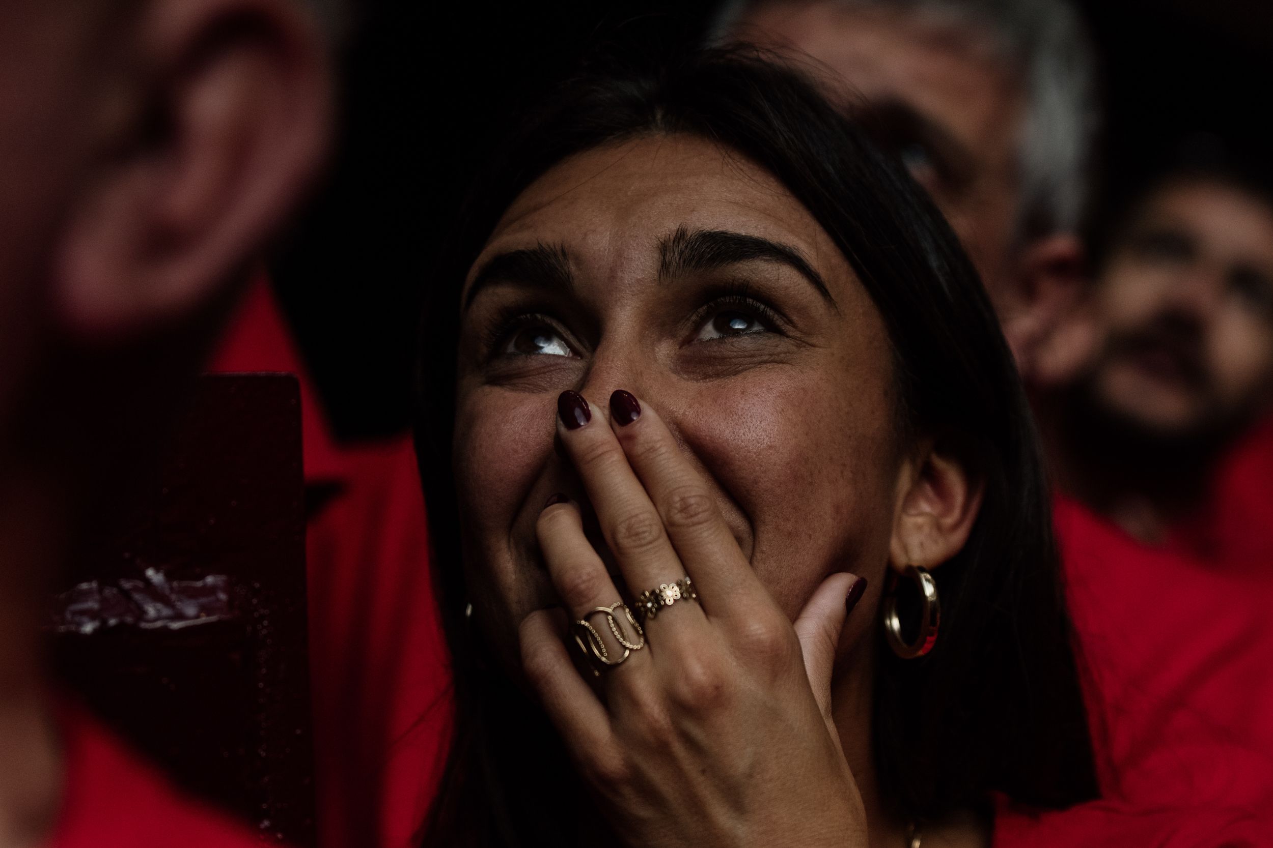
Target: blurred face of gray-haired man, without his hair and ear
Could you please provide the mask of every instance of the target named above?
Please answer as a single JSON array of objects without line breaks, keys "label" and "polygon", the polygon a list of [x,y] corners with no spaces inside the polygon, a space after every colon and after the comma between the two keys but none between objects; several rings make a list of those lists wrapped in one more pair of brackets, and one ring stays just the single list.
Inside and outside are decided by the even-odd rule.
[{"label": "blurred face of gray-haired man, without his hair and ear", "polygon": [[990,38],[923,15],[816,0],[760,4],[733,34],[807,53],[867,100],[866,126],[941,207],[1002,311],[1017,247],[1023,102]]}]

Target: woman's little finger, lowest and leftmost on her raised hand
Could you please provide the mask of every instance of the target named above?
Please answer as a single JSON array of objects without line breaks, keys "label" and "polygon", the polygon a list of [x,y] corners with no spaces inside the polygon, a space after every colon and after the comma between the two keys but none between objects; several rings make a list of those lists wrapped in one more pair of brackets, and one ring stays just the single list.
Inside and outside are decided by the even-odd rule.
[{"label": "woman's little finger, lowest and leftmost on her raised hand", "polygon": [[[563,617],[564,618],[564,617]],[[563,642],[564,620],[540,609],[527,615],[519,628],[522,669],[531,688],[544,702],[549,718],[561,731],[577,759],[612,750],[612,728],[606,708],[575,671]]]}]

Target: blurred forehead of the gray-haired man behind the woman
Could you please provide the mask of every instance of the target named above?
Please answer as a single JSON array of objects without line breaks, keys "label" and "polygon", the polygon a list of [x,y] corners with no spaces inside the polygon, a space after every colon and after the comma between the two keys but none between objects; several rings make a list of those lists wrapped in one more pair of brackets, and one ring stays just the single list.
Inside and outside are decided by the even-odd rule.
[{"label": "blurred forehead of the gray-haired man behind the woman", "polygon": [[807,53],[868,100],[909,103],[974,142],[1003,132],[1020,108],[1015,72],[993,39],[967,25],[834,3],[763,4],[737,34]]}]

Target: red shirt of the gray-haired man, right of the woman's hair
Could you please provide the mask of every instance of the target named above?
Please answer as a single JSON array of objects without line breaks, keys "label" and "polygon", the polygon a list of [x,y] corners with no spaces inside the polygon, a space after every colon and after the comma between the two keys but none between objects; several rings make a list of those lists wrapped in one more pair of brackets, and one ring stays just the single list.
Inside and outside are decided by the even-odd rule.
[{"label": "red shirt of the gray-haired man, right of the woman's hair", "polygon": [[1104,792],[1142,810],[1273,798],[1273,575],[1141,545],[1055,503]]}]

